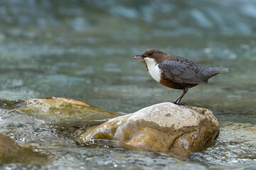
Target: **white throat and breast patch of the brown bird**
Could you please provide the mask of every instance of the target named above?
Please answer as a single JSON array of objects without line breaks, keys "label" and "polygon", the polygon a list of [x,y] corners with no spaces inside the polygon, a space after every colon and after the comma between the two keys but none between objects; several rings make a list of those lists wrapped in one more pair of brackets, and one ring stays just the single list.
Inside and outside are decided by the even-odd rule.
[{"label": "white throat and breast patch of the brown bird", "polygon": [[155,79],[157,82],[160,82],[161,69],[158,67],[159,64],[156,64],[156,61],[149,57],[145,57],[144,60],[146,61],[146,65],[149,69],[151,77],[153,77],[153,79]]}]

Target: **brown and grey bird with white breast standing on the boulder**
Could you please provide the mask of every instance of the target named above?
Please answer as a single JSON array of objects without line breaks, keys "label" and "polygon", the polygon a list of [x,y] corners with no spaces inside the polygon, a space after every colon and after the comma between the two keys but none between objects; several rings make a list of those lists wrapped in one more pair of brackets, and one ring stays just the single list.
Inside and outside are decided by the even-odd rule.
[{"label": "brown and grey bird with white breast standing on the boulder", "polygon": [[193,86],[208,83],[208,79],[228,72],[229,68],[206,67],[178,55],[171,55],[154,48],[145,50],[142,55],[134,55],[134,59],[144,64],[149,75],[160,84],[171,89],[181,89],[183,93],[173,102],[178,105],[181,99]]}]

